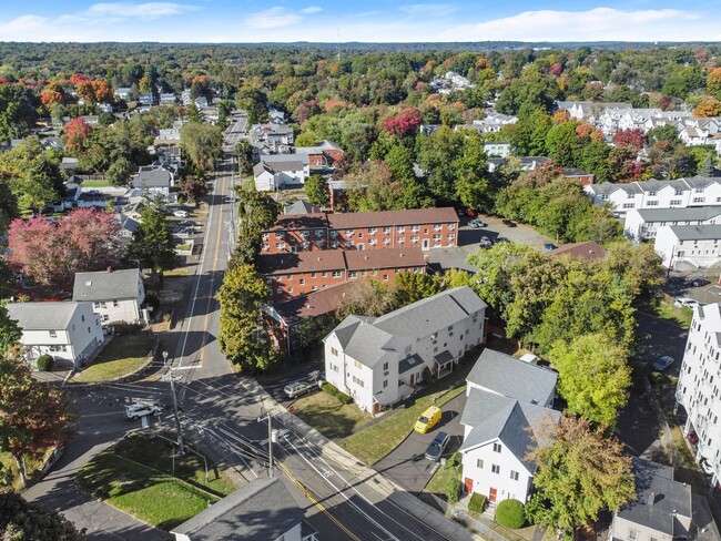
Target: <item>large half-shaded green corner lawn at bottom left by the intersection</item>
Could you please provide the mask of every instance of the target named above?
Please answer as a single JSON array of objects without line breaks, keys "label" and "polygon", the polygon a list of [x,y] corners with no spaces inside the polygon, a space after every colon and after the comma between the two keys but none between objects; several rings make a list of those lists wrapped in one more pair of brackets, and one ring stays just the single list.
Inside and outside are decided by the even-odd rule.
[{"label": "large half-shaded green corner lawn at bottom left by the intersection", "polygon": [[186,521],[234,490],[223,473],[211,471],[205,481],[195,455],[176,457],[165,440],[136,435],[88,462],[77,476],[93,498],[164,530]]}]

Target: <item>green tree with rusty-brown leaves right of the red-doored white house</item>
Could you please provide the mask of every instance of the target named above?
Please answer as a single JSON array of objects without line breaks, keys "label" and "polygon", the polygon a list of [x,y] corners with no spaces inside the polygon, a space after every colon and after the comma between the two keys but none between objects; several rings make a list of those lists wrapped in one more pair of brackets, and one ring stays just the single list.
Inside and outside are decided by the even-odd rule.
[{"label": "green tree with rusty-brown leaves right of the red-doored white house", "polygon": [[602,427],[562,415],[558,425],[542,422],[534,432],[536,443],[526,459],[538,466],[534,486],[548,502],[544,525],[572,535],[597,520],[601,509],[618,511],[636,499],[631,459],[616,438],[605,438]]}]

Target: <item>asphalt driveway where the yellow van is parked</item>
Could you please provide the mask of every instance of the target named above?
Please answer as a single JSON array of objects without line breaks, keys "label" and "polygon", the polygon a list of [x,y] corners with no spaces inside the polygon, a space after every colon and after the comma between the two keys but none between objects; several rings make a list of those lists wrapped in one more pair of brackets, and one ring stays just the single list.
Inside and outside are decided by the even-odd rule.
[{"label": "asphalt driveway where the yellow van is parked", "polygon": [[426,449],[436,435],[440,431],[450,435],[450,443],[446,448],[444,458],[448,458],[460,447],[464,436],[460,414],[465,406],[465,394],[444,405],[440,408],[443,418],[438,427],[428,433],[418,433],[414,430],[393,452],[376,462],[373,469],[389,477],[408,491],[419,493],[438,468],[438,462],[427,460],[425,457]]}]

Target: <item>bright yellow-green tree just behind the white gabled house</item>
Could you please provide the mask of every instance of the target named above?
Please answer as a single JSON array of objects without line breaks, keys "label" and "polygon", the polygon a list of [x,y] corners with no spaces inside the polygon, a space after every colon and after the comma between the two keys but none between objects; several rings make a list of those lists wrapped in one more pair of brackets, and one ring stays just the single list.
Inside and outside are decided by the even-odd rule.
[{"label": "bright yellow-green tree just behind the white gabled house", "polygon": [[558,340],[548,357],[558,370],[558,392],[568,412],[613,429],[631,385],[626,348],[616,338],[596,333],[576,336],[570,344]]}]

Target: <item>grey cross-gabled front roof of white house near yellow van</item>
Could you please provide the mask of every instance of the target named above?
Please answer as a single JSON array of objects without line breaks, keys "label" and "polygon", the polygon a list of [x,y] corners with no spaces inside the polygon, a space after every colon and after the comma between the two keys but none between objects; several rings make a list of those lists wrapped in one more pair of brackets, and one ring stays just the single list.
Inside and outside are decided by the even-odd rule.
[{"label": "grey cross-gabled front roof of white house near yellow van", "polygon": [[538,427],[546,419],[559,418],[560,411],[471,388],[460,422],[473,428],[459,450],[500,440],[534,473],[536,465],[526,460],[526,455],[534,447],[534,437],[540,436]]}]

